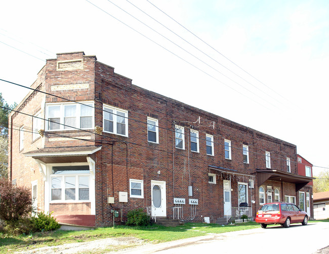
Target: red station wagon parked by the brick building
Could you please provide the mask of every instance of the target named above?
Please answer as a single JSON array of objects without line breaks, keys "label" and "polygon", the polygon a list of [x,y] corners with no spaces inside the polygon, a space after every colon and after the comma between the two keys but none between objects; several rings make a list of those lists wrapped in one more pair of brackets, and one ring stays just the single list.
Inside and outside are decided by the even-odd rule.
[{"label": "red station wagon parked by the brick building", "polygon": [[269,224],[281,224],[287,228],[291,223],[307,225],[307,213],[299,209],[295,204],[285,202],[268,203],[261,206],[256,215],[256,222],[262,228]]}]

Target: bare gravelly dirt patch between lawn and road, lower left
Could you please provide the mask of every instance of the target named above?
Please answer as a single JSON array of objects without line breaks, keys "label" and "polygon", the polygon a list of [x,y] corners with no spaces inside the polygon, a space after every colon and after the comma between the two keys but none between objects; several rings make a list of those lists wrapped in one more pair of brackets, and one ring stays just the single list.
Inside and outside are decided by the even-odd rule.
[{"label": "bare gravelly dirt patch between lawn and road, lower left", "polygon": [[72,254],[72,253],[104,253],[104,251],[122,250],[125,248],[143,245],[145,242],[135,237],[106,238],[87,242],[66,243],[57,246],[25,249],[15,253],[24,254]]}]

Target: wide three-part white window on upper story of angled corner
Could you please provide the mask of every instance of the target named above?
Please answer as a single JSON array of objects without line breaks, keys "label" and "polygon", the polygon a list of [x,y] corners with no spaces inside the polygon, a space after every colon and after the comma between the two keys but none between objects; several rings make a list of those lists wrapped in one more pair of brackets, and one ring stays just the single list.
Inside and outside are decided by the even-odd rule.
[{"label": "wide three-part white window on upper story of angled corner", "polygon": [[49,103],[46,105],[47,130],[93,129],[94,102]]}]

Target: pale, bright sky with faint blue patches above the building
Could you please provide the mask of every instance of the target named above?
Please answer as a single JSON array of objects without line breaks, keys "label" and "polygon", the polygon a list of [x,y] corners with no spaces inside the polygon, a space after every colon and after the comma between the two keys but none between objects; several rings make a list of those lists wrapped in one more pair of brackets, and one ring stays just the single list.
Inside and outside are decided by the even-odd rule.
[{"label": "pale, bright sky with faint blue patches above the building", "polygon": [[[77,51],[329,167],[327,0],[0,3],[0,79],[30,86],[46,59]],[[0,92],[13,104],[28,89],[0,81]]]}]

